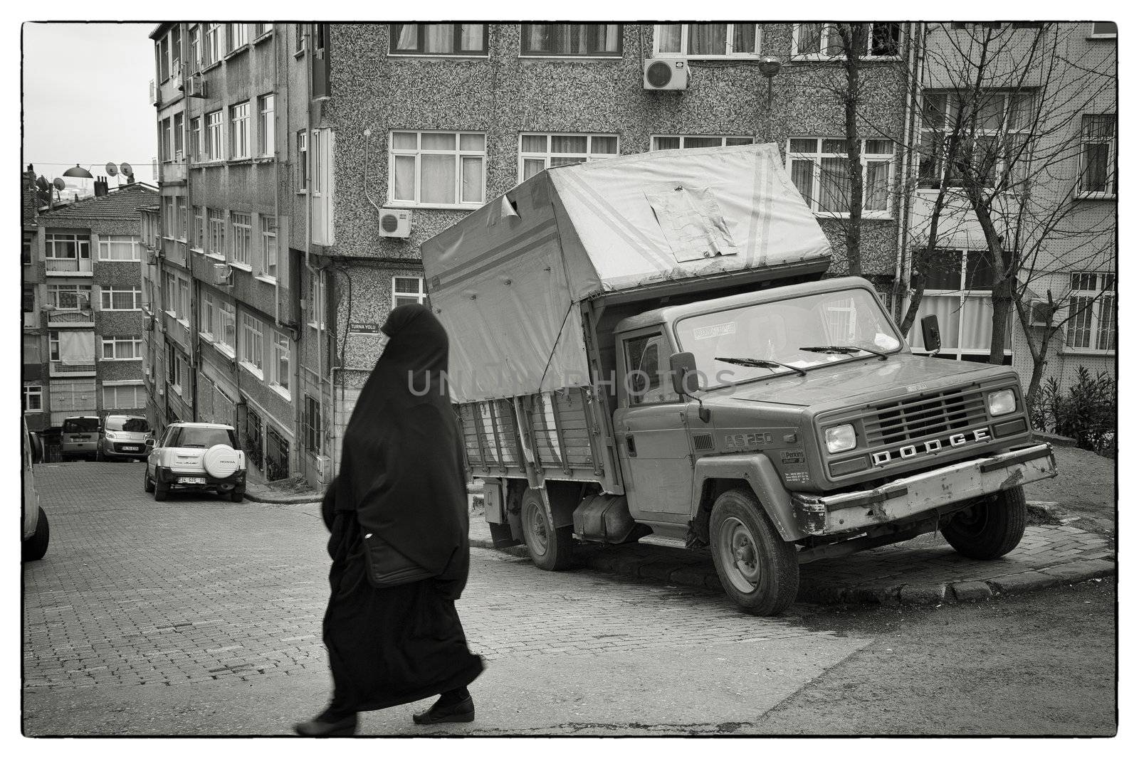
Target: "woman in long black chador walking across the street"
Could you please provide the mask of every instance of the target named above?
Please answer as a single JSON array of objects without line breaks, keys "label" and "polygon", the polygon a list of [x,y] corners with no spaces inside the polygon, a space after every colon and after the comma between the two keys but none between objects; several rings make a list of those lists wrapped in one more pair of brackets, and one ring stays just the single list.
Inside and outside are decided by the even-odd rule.
[{"label": "woman in long black chador walking across the street", "polygon": [[[388,343],[352,412],[339,476],[322,504],[331,531],[323,633],[333,699],[296,725],[300,735],[352,735],[359,711],[435,694],[415,721],[475,718],[467,685],[483,662],[467,649],[454,610],[470,556],[446,332],[419,305],[393,310],[383,332]],[[420,579],[392,585],[377,577],[388,568],[372,550],[377,538],[387,546],[383,555]]]}]

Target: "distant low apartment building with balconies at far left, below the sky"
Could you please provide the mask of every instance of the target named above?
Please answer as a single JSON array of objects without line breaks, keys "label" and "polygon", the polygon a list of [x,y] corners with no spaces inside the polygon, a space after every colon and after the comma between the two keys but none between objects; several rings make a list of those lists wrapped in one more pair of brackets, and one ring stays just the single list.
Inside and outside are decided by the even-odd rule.
[{"label": "distant low apartment building with balconies at far left, below the sky", "polygon": [[[30,430],[64,418],[144,413],[140,206],[156,190],[131,183],[39,206],[24,174],[23,410]],[[27,205],[33,213],[28,214]],[[38,206],[38,207],[36,207]]]}]

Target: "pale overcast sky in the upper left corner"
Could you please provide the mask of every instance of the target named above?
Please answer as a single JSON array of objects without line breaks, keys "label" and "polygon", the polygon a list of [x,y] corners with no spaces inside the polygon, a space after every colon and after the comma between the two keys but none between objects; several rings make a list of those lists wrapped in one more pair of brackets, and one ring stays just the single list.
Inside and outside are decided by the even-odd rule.
[{"label": "pale overcast sky in the upper left corner", "polygon": [[[49,181],[80,164],[96,176],[129,163],[151,182],[157,151],[155,24],[24,24],[24,157]],[[110,179],[114,187],[118,178]],[[91,180],[88,180],[90,188]]]}]

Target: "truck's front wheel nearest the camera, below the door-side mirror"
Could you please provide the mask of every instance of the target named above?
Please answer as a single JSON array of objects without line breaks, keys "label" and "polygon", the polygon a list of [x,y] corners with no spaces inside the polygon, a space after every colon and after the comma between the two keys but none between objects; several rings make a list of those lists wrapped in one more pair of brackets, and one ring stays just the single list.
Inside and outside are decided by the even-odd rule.
[{"label": "truck's front wheel nearest the camera, below the door-side mirror", "polygon": [[715,500],[708,522],[712,561],[724,592],[749,614],[772,617],[798,593],[798,558],[751,490]]}]

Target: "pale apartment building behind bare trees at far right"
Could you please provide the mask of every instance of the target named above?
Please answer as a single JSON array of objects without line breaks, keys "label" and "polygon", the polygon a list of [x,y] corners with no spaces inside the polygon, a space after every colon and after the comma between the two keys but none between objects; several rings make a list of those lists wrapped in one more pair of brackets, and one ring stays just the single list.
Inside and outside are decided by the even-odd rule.
[{"label": "pale apartment building behind bare trees at far right", "polygon": [[[985,192],[1005,248],[1022,258],[1029,324],[1010,315],[1005,363],[1025,387],[1029,341],[1050,322],[1060,329],[1044,377],[1062,387],[1080,365],[1115,373],[1116,350],[1116,28],[1113,23],[931,24],[917,30],[920,118],[916,135],[909,248],[929,236],[947,140],[959,112],[975,108],[975,142],[960,163],[988,163]],[[984,61],[978,64],[978,61]],[[984,86],[973,90],[977,71]],[[936,313],[942,357],[988,361],[992,339],[992,265],[984,229],[964,197],[961,170],[936,234],[919,315]],[[1049,296],[1058,306],[1047,313]],[[911,332],[910,340],[913,343]],[[920,339],[917,340],[920,345]]]}]

